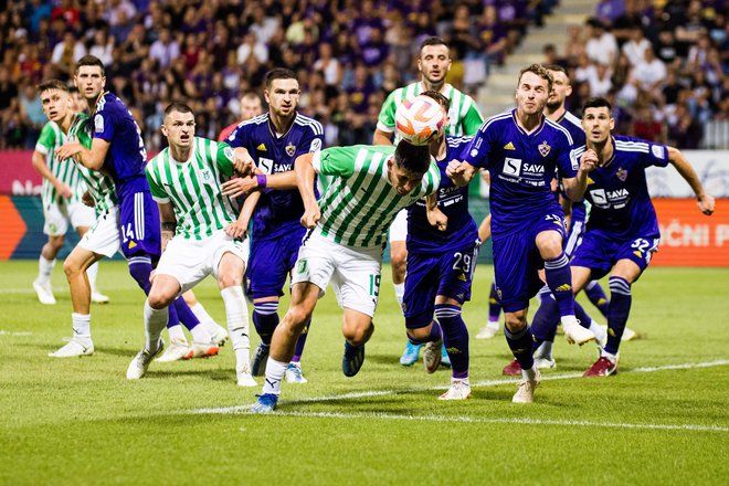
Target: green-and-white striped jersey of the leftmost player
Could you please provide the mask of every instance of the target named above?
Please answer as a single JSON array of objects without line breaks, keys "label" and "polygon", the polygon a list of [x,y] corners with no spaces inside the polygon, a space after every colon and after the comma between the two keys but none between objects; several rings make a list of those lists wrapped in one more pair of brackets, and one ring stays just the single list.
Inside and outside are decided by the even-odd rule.
[{"label": "green-and-white striped jersey of the leftmost player", "polygon": [[66,141],[66,136],[61,131],[61,127],[55,122],[49,122],[43,126],[41,135],[35,144],[35,150],[45,156],[45,163],[51,173],[61,182],[68,184],[73,194],[71,198],[63,198],[59,194],[55,187],[47,179],[43,179],[41,186],[41,197],[43,207],[53,203],[61,203],[63,200],[68,204],[81,201],[81,197],[86,192],[86,187],[81,180],[81,175],[76,170],[75,163],[71,159],[59,160],[55,156],[56,150]]}]

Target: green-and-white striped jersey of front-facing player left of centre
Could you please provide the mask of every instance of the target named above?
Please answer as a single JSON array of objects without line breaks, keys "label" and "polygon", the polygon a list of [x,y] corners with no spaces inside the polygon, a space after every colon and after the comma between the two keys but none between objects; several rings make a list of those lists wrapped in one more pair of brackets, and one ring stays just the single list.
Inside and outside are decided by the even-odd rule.
[{"label": "green-and-white striped jersey of front-facing player left of centre", "polygon": [[230,198],[220,188],[223,176],[233,176],[233,158],[228,144],[194,137],[188,160],[175,160],[168,147],[147,163],[152,198],[175,208],[175,234],[202,240],[235,221]]}]

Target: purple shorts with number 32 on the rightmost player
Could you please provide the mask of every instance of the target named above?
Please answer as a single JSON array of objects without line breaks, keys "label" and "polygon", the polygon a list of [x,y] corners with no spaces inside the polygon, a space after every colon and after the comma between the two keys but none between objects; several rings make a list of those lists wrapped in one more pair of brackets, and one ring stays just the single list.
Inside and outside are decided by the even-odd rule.
[{"label": "purple shorts with number 32 on the rightmost player", "polygon": [[661,239],[655,236],[617,240],[602,231],[587,231],[570,265],[590,268],[592,279],[608,275],[619,260],[630,260],[643,273],[648,267],[653,253],[658,251],[659,242]]}]

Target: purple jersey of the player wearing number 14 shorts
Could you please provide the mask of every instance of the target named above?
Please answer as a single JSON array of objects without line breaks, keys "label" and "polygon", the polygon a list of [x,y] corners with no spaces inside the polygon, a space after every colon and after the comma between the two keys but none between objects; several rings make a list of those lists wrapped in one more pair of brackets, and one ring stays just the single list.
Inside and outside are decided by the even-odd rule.
[{"label": "purple jersey of the player wearing number 14 shorts", "polygon": [[104,93],[96,104],[93,118],[93,137],[110,144],[104,160],[104,170],[117,184],[120,200],[125,192],[128,192],[125,191],[127,183],[137,179],[147,180],[147,151],[139,126],[122,99],[108,92]]}]

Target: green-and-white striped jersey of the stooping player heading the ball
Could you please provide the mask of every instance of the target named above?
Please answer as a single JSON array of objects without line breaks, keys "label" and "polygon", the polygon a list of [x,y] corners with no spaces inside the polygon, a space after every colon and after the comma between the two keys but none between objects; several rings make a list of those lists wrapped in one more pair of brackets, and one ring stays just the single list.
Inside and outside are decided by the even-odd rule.
[{"label": "green-and-white striped jersey of the stooping player heading the ball", "polygon": [[406,196],[398,194],[388,179],[388,160],[394,151],[393,146],[356,145],[314,155],[314,170],[332,176],[319,199],[317,230],[325,237],[346,246],[380,246],[401,209],[437,191],[441,172],[431,159],[421,184]]}]

